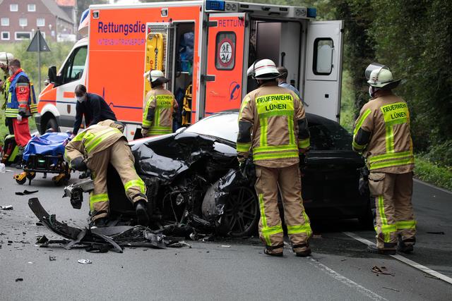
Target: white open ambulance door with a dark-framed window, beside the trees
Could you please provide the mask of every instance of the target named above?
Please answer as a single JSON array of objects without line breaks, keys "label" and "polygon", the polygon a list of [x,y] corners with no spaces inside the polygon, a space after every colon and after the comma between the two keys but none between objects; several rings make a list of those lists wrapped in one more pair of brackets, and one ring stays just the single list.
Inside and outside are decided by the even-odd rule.
[{"label": "white open ambulance door with a dark-framed window, beside the trees", "polygon": [[343,21],[311,21],[307,27],[305,109],[333,121],[340,118]]}]

